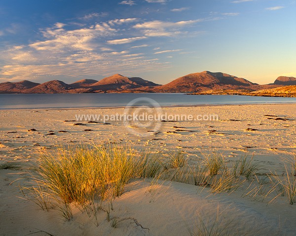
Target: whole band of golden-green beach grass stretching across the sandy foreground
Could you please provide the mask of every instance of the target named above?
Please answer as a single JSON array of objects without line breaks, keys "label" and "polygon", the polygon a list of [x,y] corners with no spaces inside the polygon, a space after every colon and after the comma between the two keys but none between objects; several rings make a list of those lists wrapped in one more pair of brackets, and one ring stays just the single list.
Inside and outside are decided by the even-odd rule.
[{"label": "whole band of golden-green beach grass stretching across the sandy foreground", "polygon": [[[96,217],[100,209],[104,210],[104,201],[112,204],[113,199],[124,193],[129,182],[146,178],[155,182],[169,180],[194,184],[203,189],[210,188],[210,193],[217,194],[231,193],[254,176],[250,184],[253,189],[249,191],[247,188],[246,195],[265,199],[275,189],[281,189],[290,204],[296,202],[296,177],[291,174],[295,168],[294,159],[289,162],[286,177],[274,177],[273,187],[268,189],[271,181],[260,183],[256,176],[260,166],[254,163],[253,157],[243,156],[230,165],[216,152],[193,164],[189,164],[181,152],[170,155],[168,159],[159,153],[140,152],[116,144],[62,148],[40,156],[29,185],[23,186],[22,191],[43,210],[57,209],[67,220],[73,218],[73,207]],[[108,206],[104,211],[110,220]]]}]

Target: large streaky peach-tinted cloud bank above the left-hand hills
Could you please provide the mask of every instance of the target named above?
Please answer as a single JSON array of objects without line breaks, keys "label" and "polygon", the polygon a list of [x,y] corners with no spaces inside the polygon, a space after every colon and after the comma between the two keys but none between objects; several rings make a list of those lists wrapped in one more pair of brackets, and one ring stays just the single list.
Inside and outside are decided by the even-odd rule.
[{"label": "large streaky peach-tinted cloud bank above the left-hand hills", "polygon": [[[92,13],[76,23],[57,22],[52,27],[39,31],[43,36],[39,41],[28,45],[11,46],[9,50],[1,51],[0,60],[5,61],[5,65],[0,67],[0,81],[24,79],[49,81],[61,77],[65,79],[74,77],[75,80],[95,79],[100,75],[110,75],[118,71],[133,74],[160,71],[172,66],[167,61],[151,59],[142,52],[133,52],[136,51],[133,49],[150,46],[148,44],[130,45],[128,51],[124,47],[120,50],[120,46],[117,46],[147,38],[143,34],[143,36],[125,36],[128,35],[125,29],[111,26],[111,23],[114,26],[132,23],[136,18],[114,19],[110,21],[111,23],[107,21],[87,27],[81,24],[84,20],[98,16],[99,13]],[[71,29],[68,29],[69,27]],[[170,29],[172,32],[176,31],[173,27]],[[136,31],[136,28],[132,30]],[[137,31],[139,33],[139,30]],[[111,40],[115,37],[119,39]]]}]

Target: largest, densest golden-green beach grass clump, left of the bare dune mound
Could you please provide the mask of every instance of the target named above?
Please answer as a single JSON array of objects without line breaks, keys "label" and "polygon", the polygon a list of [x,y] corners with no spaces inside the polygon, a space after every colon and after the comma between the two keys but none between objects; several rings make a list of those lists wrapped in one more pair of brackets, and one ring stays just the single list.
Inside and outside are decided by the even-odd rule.
[{"label": "largest, densest golden-green beach grass clump, left of the bare dune mound", "polygon": [[42,209],[56,208],[70,220],[73,204],[89,209],[89,205],[114,199],[132,178],[154,178],[162,168],[157,156],[129,146],[64,148],[39,158],[32,181],[22,191]]}]

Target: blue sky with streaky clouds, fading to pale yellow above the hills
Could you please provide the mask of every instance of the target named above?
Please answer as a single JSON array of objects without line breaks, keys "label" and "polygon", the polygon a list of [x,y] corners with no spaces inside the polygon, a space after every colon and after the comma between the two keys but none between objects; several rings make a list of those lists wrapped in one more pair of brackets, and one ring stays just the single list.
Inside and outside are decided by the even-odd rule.
[{"label": "blue sky with streaky clouds, fading to pale yellow above the hills", "polygon": [[296,0],[0,0],[0,83],[296,77]]}]

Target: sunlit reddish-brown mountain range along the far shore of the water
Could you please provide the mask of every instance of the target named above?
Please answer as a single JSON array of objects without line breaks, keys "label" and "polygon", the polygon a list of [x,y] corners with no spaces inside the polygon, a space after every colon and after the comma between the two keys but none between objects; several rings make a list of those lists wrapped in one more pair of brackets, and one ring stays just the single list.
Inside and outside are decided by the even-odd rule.
[{"label": "sunlit reddish-brown mountain range along the far shore of the water", "polygon": [[273,84],[259,85],[244,78],[221,72],[203,71],[158,85],[139,77],[125,77],[115,74],[100,81],[84,79],[72,84],[53,80],[43,84],[28,80],[0,83],[0,93],[120,93],[120,92],[203,92],[217,89],[247,89],[256,91],[296,85],[295,77],[278,77]]}]

